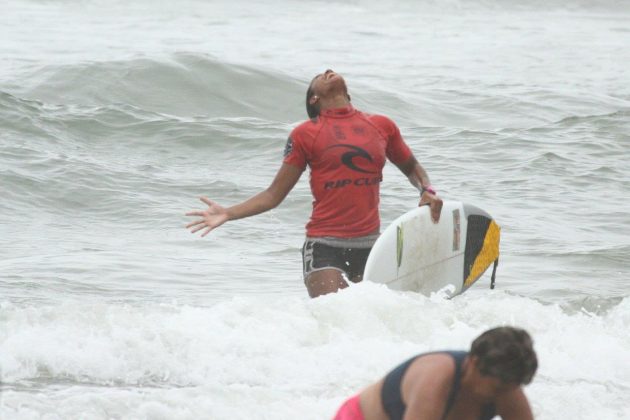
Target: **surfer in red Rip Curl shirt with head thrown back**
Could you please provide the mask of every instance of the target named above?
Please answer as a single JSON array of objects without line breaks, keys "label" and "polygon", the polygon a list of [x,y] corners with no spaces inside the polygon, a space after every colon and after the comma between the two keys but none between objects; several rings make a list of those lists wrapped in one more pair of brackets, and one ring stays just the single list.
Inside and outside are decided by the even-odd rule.
[{"label": "surfer in red Rip Curl shirt with head thrown back", "polygon": [[[304,282],[311,297],[336,292],[359,282],[379,235],[379,187],[386,158],[420,191],[438,222],[442,200],[405,144],[396,124],[381,115],[356,110],[345,80],[332,70],[317,75],[306,92],[309,120],[287,140],[284,161],[271,185],[259,194],[224,208],[201,197],[206,210],[186,227],[201,236],[229,220],[253,216],[278,206],[310,167],[313,212],[302,247]],[[345,278],[344,278],[345,276]]]}]

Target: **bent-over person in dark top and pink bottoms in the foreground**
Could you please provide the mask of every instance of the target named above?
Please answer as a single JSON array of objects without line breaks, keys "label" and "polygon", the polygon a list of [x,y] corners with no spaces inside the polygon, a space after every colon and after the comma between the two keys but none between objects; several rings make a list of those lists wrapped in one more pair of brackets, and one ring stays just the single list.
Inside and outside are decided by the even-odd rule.
[{"label": "bent-over person in dark top and pink bottoms in the foreground", "polygon": [[529,334],[498,327],[469,352],[420,354],[348,399],[334,420],[533,419],[522,389],[538,361]]}]

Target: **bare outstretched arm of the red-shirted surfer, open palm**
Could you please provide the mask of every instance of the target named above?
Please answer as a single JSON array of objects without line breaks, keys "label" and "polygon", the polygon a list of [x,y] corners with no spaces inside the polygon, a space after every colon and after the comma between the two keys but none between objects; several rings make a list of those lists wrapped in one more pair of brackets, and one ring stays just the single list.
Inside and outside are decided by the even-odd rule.
[{"label": "bare outstretched arm of the red-shirted surfer, open palm", "polygon": [[302,172],[302,169],[285,163],[280,167],[273,182],[266,190],[228,208],[221,207],[207,197],[201,197],[201,201],[206,203],[208,208],[186,213],[186,216],[201,218],[189,223],[186,228],[190,229],[191,233],[205,229],[201,236],[206,236],[210,231],[229,220],[242,219],[271,210],[277,207],[293,189]]}]

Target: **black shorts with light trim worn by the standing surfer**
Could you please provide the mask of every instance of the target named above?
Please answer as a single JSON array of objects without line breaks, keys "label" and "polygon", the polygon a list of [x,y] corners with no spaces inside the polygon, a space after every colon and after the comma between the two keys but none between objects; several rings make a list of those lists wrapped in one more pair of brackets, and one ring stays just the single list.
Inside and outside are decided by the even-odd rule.
[{"label": "black shorts with light trim worn by the standing surfer", "polygon": [[371,249],[371,246],[369,248],[333,246],[307,238],[302,246],[304,280],[311,273],[326,269],[339,270],[348,279],[363,276]]}]

